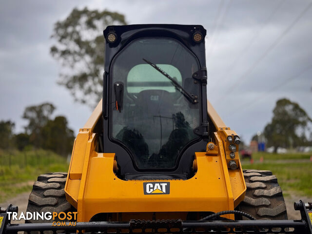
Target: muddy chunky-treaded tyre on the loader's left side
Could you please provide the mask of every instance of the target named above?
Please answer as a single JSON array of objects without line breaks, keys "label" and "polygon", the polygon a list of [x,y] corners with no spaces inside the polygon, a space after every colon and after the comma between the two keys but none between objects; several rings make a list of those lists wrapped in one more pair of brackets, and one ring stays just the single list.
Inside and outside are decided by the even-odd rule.
[{"label": "muddy chunky-treaded tyre on the loader's left side", "polygon": [[[67,173],[49,173],[38,176],[29,195],[27,212],[69,212],[75,208],[66,200],[65,182]],[[66,220],[63,220],[66,221]],[[73,221],[73,220],[71,220]],[[53,222],[53,220],[27,220],[28,223]]]}]

